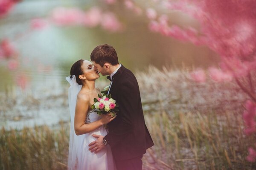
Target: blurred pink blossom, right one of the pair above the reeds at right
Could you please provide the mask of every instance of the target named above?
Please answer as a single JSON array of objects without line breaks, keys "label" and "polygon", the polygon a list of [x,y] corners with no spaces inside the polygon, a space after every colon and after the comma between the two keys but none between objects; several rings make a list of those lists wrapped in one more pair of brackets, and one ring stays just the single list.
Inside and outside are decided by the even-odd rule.
[{"label": "blurred pink blossom, right one of the pair above the reeds at right", "polygon": [[218,68],[209,68],[209,75],[210,77],[216,81],[216,82],[221,82],[221,81],[231,81],[233,79],[233,76],[229,72],[224,72]]}]

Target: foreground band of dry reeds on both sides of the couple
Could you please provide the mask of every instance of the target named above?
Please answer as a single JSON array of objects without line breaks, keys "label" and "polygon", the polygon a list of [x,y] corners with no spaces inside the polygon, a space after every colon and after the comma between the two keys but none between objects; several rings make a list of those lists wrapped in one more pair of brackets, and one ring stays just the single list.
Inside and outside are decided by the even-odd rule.
[{"label": "foreground band of dry reeds on both sides of the couple", "polygon": [[[253,170],[246,161],[247,147],[255,141],[241,133],[239,115],[176,113],[146,114],[154,141],[143,157],[144,170]],[[232,116],[230,116],[232,114]],[[229,120],[227,120],[229,119]],[[229,123],[224,123],[229,121]],[[0,169],[62,170],[67,168],[69,125],[22,130],[0,130]]]}]

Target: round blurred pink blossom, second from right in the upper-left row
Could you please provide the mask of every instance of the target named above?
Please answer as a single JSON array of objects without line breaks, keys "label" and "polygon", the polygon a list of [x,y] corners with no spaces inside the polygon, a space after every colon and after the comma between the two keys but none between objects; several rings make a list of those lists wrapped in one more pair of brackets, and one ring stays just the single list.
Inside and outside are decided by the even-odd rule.
[{"label": "round blurred pink blossom, second from right in the upper-left row", "polygon": [[102,19],[102,11],[98,7],[90,8],[84,15],[83,24],[88,27],[98,26]]}]

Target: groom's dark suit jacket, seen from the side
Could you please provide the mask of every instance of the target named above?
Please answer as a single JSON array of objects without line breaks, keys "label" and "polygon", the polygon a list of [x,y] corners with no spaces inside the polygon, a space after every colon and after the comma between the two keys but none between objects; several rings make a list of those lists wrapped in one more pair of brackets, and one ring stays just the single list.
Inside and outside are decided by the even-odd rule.
[{"label": "groom's dark suit jacket, seen from the side", "polygon": [[146,153],[154,143],[145,125],[136,77],[122,65],[112,80],[109,94],[119,104],[119,112],[108,123],[105,139],[115,160],[132,159]]}]

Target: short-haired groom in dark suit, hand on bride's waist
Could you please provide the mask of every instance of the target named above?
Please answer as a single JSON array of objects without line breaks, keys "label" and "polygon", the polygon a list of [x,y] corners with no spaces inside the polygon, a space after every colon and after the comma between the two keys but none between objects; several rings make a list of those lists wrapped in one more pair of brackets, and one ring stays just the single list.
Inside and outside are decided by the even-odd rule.
[{"label": "short-haired groom in dark suit, hand on bride's waist", "polygon": [[119,112],[108,123],[106,136],[93,135],[97,140],[89,144],[89,150],[96,153],[109,144],[117,170],[142,170],[143,154],[154,143],[145,125],[137,79],[119,64],[111,45],[97,46],[90,58],[95,70],[103,76],[109,75],[108,94],[119,104]]}]

